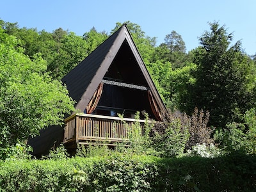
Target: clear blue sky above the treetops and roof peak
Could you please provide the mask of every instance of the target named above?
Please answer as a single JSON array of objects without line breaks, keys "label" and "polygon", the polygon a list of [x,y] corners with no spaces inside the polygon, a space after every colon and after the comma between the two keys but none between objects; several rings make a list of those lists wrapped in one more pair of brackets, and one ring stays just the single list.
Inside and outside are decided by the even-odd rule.
[{"label": "clear blue sky above the treetops and roof peak", "polygon": [[187,51],[198,47],[208,22],[218,21],[234,33],[233,44],[241,40],[247,54],[256,53],[255,0],[3,0],[0,19],[18,22],[20,28],[63,28],[81,36],[93,27],[110,33],[116,22],[129,20],[157,37],[157,44],[176,31]]}]

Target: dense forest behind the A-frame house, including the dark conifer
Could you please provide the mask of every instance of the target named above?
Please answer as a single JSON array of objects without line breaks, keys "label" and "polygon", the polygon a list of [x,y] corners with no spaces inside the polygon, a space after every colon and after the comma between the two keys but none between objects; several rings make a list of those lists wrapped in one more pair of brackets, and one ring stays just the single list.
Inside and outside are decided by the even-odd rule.
[{"label": "dense forest behind the A-frame house, including the dark conifer", "polygon": [[[186,44],[176,31],[170,31],[164,42],[156,45],[156,37],[145,35],[138,24],[129,21],[126,23],[168,108],[191,113],[198,107],[216,115],[222,110],[214,106],[225,105],[223,119],[226,119],[228,114],[230,116],[227,121],[230,121],[234,118],[235,108],[243,108],[242,111],[239,110],[243,113],[245,109],[252,107],[246,106],[251,102],[242,97],[248,97],[246,94],[253,90],[256,54],[246,55],[241,42],[232,44],[234,34],[228,34],[225,26],[219,26],[216,22],[210,23],[210,31],[198,38],[201,45],[186,51]],[[49,33],[44,30],[37,31],[36,28],[19,28],[18,23],[3,20],[0,20],[0,25],[4,33],[19,40],[19,46],[24,48],[24,54],[29,58],[40,53],[47,62],[47,71],[54,79],[65,76],[122,26],[117,22],[109,34],[92,28],[83,36],[77,36],[74,32],[61,28]],[[245,81],[244,77],[248,80],[241,82]],[[234,90],[237,89],[234,81],[244,88],[250,87],[251,90]],[[234,91],[237,93],[234,94]],[[244,92],[244,95],[239,95],[241,92]],[[242,100],[243,106],[240,103],[235,104]],[[220,116],[214,118],[218,118],[215,121],[223,121]],[[223,122],[224,125],[225,123],[227,122]]]}]

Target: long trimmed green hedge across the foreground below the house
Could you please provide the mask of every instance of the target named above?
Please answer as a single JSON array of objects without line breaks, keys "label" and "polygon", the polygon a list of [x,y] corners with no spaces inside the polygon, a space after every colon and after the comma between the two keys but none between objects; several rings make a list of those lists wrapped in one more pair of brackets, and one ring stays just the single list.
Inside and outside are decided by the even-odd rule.
[{"label": "long trimmed green hedge across the foreground below the house", "polygon": [[0,191],[255,191],[256,157],[113,154],[0,163]]}]

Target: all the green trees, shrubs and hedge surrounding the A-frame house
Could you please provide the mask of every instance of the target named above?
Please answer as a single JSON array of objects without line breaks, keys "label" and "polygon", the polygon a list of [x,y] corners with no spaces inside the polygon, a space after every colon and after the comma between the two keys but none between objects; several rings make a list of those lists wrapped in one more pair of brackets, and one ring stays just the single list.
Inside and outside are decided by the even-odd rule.
[{"label": "all the green trees, shrubs and hedge surrounding the A-frame house", "polygon": [[[131,127],[130,147],[59,147],[35,160],[24,145],[61,124],[74,101],[60,82],[111,33],[83,36],[19,28],[0,20],[0,189],[2,191],[253,191],[256,184],[256,54],[232,43],[218,22],[186,52],[170,31],[162,44],[127,22],[168,111]],[[191,166],[192,165],[192,166]],[[6,182],[8,181],[8,182]]]}]

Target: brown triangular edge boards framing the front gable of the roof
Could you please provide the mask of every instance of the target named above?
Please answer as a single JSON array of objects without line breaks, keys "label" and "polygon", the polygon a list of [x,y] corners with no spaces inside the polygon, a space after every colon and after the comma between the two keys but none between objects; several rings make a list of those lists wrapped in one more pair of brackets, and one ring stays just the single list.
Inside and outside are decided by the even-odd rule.
[{"label": "brown triangular edge boards framing the front gable of the roof", "polygon": [[[132,53],[134,54],[134,58],[136,59],[138,65],[141,69],[141,72],[143,73],[143,76],[145,77],[145,79],[148,83],[148,86],[152,92],[152,95],[153,95],[154,99],[156,100],[157,105],[159,106],[159,109],[161,111],[164,111],[166,108],[164,106],[163,100],[161,99],[159,92],[157,92],[156,86],[155,86],[152,78],[150,77],[150,74],[148,73],[147,67],[146,67],[143,59],[141,58],[140,52],[138,51],[138,48],[136,47],[136,44],[134,43],[134,40],[132,39],[131,33],[127,29],[126,24],[122,25],[115,33],[113,33],[111,36],[109,36],[109,38],[111,38],[111,37],[114,37],[115,40],[113,40],[113,42],[110,41],[112,43],[112,45],[110,46],[106,55],[104,55],[104,59],[99,64],[99,68],[97,68],[95,74],[93,74],[92,79],[90,79],[90,83],[88,84],[88,86],[86,87],[86,90],[84,90],[79,101],[77,102],[76,109],[79,109],[81,112],[84,111],[87,104],[90,102],[90,99],[92,99],[93,93],[95,92],[95,90],[97,90],[97,87],[99,86],[104,75],[106,74],[106,71],[108,70],[109,66],[111,65],[112,61],[114,60],[117,52],[119,51],[121,45],[124,42],[124,40],[126,39],[127,43],[129,44],[129,47],[131,48]],[[100,44],[91,54],[93,54],[94,52],[96,53],[97,49],[99,49],[100,46],[107,44],[108,39],[105,40],[102,44]],[[84,60],[86,60],[86,58]],[[77,65],[77,67],[78,67],[78,65]],[[63,79],[64,79],[64,77],[63,77]]]}]

